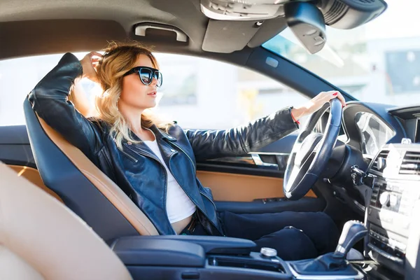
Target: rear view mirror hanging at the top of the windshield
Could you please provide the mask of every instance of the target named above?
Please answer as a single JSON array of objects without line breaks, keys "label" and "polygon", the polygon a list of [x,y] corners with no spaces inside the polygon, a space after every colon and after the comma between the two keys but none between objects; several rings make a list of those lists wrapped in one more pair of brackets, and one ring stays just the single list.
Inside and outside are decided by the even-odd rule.
[{"label": "rear view mirror hanging at the top of the windshield", "polygon": [[327,37],[321,10],[309,2],[293,1],[284,4],[288,27],[311,54],[322,50]]}]

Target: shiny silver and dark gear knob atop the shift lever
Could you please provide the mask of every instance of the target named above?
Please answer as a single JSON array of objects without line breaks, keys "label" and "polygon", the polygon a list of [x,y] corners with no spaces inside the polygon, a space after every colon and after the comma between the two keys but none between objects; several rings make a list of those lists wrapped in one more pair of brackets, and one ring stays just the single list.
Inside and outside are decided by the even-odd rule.
[{"label": "shiny silver and dark gear knob atop the shift lever", "polygon": [[359,221],[348,221],[344,224],[342,235],[339,237],[337,248],[335,248],[334,255],[340,255],[343,258],[349,253],[351,247],[357,241],[367,235],[367,228]]}]

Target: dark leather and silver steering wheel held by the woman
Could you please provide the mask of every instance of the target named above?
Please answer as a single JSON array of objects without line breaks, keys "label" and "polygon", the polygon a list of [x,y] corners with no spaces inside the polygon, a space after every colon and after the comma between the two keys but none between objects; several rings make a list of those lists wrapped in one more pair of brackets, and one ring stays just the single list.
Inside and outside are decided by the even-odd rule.
[{"label": "dark leather and silver steering wheel held by the woman", "polygon": [[[313,132],[319,118],[330,108],[325,133]],[[318,180],[331,157],[342,122],[342,104],[339,99],[313,113],[306,127],[299,133],[289,155],[283,179],[283,193],[289,200],[299,200]]]}]

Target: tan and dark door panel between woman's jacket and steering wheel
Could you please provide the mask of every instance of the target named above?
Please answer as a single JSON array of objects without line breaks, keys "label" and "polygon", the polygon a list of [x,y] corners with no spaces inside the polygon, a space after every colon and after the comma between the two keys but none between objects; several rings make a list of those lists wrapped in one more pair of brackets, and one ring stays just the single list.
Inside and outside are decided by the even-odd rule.
[{"label": "tan and dark door panel between woman's jacket and steering wheel", "polygon": [[325,202],[312,190],[297,202],[284,197],[283,176],[296,137],[290,134],[248,155],[198,162],[197,178],[211,188],[219,211],[322,211]]}]

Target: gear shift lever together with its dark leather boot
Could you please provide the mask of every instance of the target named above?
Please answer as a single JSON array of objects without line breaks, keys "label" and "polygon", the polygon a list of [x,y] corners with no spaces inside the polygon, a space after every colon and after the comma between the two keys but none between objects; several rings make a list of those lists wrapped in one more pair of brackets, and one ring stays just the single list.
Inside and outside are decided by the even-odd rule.
[{"label": "gear shift lever together with its dark leather boot", "polygon": [[[314,260],[300,260],[293,262],[298,274],[311,274],[312,272],[356,273],[346,261],[346,255],[357,241],[365,237],[367,228],[359,221],[348,221],[344,224],[342,235],[339,237],[334,253],[326,253]],[[357,273],[356,273],[357,274]]]}]

